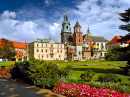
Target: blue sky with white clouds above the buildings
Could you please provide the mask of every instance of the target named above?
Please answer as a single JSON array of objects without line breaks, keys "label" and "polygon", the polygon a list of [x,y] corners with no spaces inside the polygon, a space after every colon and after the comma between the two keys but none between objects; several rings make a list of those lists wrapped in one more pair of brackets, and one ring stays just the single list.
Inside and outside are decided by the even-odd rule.
[{"label": "blue sky with white clouds above the buildings", "polygon": [[83,34],[89,25],[92,36],[111,40],[126,35],[118,13],[130,8],[130,0],[0,0],[0,38],[17,42],[40,39],[60,41],[65,13],[72,33],[76,21]]}]

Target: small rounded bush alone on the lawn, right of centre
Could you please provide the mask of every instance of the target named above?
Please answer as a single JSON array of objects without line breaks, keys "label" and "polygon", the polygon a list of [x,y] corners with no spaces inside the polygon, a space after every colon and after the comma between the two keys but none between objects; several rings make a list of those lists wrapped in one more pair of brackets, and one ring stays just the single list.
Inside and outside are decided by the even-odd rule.
[{"label": "small rounded bush alone on the lawn, right of centre", "polygon": [[88,69],[86,70],[86,73],[80,75],[80,78],[82,81],[91,81],[94,75],[95,73],[91,69]]}]

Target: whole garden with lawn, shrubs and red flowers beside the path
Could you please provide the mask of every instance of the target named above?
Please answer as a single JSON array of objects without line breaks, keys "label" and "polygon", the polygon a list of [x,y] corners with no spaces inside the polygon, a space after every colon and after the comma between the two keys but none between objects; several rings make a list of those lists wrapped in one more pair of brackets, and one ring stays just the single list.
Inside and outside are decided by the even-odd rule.
[{"label": "whole garden with lawn, shrubs and red flowers beside the path", "polygon": [[[0,62],[0,74],[68,97],[130,97],[125,61]],[[6,66],[6,67],[4,67]]]}]

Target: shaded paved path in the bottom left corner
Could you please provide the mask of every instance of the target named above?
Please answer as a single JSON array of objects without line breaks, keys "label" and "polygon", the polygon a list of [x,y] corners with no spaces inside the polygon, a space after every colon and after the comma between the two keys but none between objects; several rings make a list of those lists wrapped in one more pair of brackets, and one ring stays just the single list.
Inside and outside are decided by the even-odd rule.
[{"label": "shaded paved path in the bottom left corner", "polygon": [[65,97],[47,89],[19,83],[0,76],[0,97]]}]

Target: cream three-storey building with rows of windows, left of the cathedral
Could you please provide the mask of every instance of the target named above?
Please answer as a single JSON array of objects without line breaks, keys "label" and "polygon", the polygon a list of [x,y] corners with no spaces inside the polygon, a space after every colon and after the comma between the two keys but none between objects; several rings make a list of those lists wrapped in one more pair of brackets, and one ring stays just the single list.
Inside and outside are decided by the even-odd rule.
[{"label": "cream three-storey building with rows of windows, left of the cathedral", "polygon": [[64,44],[53,39],[37,39],[27,46],[27,59],[64,60]]}]

